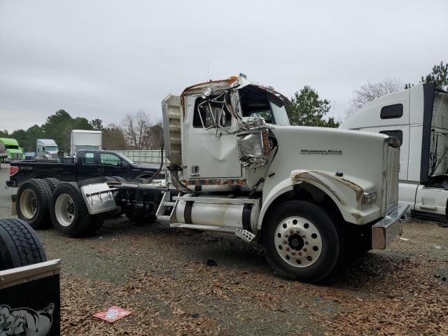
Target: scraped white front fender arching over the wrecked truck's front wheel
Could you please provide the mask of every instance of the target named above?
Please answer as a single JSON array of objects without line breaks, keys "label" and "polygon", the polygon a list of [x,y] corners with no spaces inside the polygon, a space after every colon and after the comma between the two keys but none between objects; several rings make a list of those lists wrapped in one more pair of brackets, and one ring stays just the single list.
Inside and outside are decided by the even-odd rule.
[{"label": "scraped white front fender arching over the wrecked truck's front wheel", "polygon": [[258,230],[261,229],[266,211],[272,202],[284,193],[293,190],[294,186],[300,183],[309,183],[322,190],[335,202],[342,217],[349,223],[365,224],[381,217],[381,208],[375,204],[363,209],[360,207],[364,190],[372,188],[367,181],[356,181],[350,176],[339,177],[318,170],[298,169],[291,172],[289,179],[284,179],[274,186],[265,197],[258,220]]}]

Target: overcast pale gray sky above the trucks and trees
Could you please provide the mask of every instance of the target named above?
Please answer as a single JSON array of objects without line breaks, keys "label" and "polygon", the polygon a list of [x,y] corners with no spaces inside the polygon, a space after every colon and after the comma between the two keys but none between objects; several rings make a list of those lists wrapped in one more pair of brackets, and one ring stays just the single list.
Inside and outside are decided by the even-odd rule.
[{"label": "overcast pale gray sky above the trucks and trees", "polygon": [[342,116],[353,89],[448,61],[448,1],[0,0],[0,129],[65,109],[160,119],[170,92],[240,72]]}]

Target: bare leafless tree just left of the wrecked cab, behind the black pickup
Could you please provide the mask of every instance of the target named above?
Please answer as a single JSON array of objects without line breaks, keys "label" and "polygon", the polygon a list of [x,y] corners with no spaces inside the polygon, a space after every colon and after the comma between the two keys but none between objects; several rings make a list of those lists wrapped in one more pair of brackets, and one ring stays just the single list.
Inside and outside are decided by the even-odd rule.
[{"label": "bare leafless tree just left of the wrecked cab, behind the black pickup", "polygon": [[153,124],[143,110],[128,113],[123,120],[125,139],[135,149],[148,149],[147,134]]}]

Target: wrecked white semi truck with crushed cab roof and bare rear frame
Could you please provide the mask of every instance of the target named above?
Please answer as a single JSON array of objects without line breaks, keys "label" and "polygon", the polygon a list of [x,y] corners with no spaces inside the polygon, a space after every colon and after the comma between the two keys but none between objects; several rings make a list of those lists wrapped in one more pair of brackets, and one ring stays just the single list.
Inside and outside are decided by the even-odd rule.
[{"label": "wrecked white semi truck with crushed cab roof and bare rear frame", "polygon": [[320,281],[343,255],[400,234],[400,148],[384,134],[290,126],[286,104],[242,75],[187,87],[162,102],[167,181],[29,180],[15,209],[34,225],[49,214],[71,237],[117,207],[131,221],[228,232],[258,241],[281,276]]}]

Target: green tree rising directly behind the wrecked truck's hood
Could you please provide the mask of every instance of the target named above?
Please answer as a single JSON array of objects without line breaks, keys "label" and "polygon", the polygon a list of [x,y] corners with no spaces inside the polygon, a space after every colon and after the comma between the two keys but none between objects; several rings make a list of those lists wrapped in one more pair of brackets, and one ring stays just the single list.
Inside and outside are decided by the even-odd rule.
[{"label": "green tree rising directly behind the wrecked truck's hood", "polygon": [[330,111],[330,101],[319,99],[318,92],[308,85],[295,92],[286,111],[291,125],[339,127],[334,118],[325,120],[325,115]]}]

